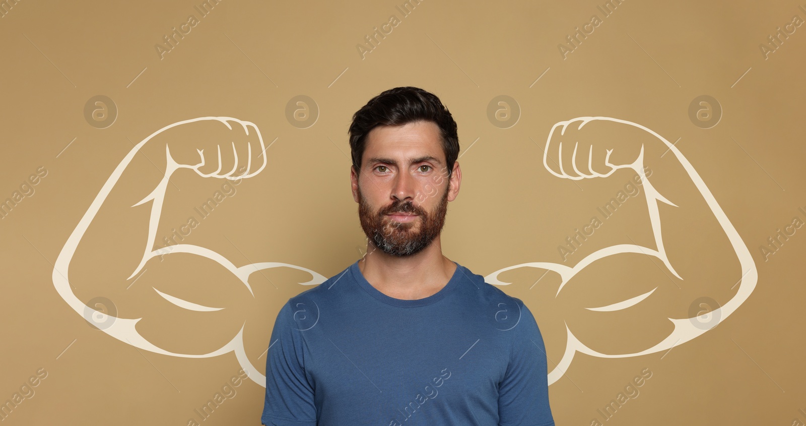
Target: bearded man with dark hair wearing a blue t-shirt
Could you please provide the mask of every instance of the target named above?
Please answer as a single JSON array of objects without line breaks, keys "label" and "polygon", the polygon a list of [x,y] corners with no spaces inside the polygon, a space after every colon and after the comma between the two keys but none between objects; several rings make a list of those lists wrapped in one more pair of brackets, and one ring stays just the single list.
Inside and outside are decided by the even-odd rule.
[{"label": "bearded man with dark hair wearing a blue t-shirt", "polygon": [[462,180],[451,113],[397,87],[359,109],[349,132],[367,254],[280,310],[263,423],[553,425],[530,310],[442,255]]}]

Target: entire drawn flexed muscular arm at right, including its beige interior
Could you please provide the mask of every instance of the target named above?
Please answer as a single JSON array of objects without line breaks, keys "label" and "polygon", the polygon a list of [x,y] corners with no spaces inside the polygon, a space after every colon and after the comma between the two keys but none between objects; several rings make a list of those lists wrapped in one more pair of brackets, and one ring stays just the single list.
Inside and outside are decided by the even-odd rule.
[{"label": "entire drawn flexed muscular arm at right, including its beige interior", "polygon": [[[700,174],[663,136],[625,120],[572,119],[551,129],[543,163],[555,177],[575,181],[637,173],[649,215],[648,221],[636,221],[649,223],[648,229],[596,240],[592,244],[604,247],[573,266],[530,262],[486,277],[506,285],[498,275],[509,269],[548,271],[538,279],[550,288],[541,302],[546,312],[559,315],[563,327],[562,335],[546,332],[549,356],[559,360],[550,382],[561,377],[576,352],[631,357],[692,340],[727,318],[753,291],[758,274],[742,238]],[[717,303],[700,309],[697,300],[703,297]],[[551,321],[551,316],[538,319]],[[563,339],[564,347],[558,345]]]}]

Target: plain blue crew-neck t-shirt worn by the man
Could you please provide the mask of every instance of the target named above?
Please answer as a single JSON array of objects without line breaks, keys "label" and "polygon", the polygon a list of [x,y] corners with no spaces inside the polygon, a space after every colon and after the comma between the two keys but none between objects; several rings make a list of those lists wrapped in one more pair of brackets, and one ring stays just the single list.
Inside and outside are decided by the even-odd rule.
[{"label": "plain blue crew-neck t-shirt worn by the man", "polygon": [[358,261],[289,299],[266,361],[268,426],[547,426],[546,352],[520,299],[456,264],[424,299]]}]

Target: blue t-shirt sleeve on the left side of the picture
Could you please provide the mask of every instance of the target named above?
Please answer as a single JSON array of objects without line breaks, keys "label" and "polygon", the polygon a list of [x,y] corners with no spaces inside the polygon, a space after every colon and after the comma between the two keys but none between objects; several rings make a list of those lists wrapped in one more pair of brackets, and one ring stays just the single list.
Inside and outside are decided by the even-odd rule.
[{"label": "blue t-shirt sleeve on the left side of the picture", "polygon": [[314,388],[305,375],[305,342],[291,302],[277,314],[266,355],[266,399],[260,420],[267,426],[316,426]]}]

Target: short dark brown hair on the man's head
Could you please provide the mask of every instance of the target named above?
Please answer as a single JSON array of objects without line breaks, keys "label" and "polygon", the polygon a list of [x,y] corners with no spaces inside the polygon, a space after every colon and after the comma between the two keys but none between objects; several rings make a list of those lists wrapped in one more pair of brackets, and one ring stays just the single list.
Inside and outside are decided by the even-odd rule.
[{"label": "short dark brown hair on the man's head", "polygon": [[439,127],[442,151],[447,162],[447,177],[450,178],[456,157],[459,156],[456,122],[451,111],[442,105],[435,94],[411,86],[385,90],[353,114],[349,133],[355,173],[361,172],[361,157],[367,146],[367,135],[373,128],[402,126],[420,120],[433,122]]}]

